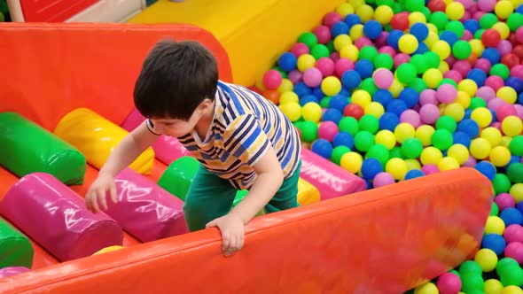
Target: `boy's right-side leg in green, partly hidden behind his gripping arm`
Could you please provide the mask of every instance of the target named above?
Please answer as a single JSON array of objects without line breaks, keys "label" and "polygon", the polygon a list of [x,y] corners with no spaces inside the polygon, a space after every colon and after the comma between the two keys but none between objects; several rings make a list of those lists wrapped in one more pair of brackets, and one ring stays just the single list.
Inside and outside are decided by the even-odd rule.
[{"label": "boy's right-side leg in green, partly hidden behind his gripping arm", "polygon": [[301,160],[293,176],[285,179],[276,195],[265,205],[266,213],[275,213],[285,209],[298,207],[298,180],[300,179]]}]

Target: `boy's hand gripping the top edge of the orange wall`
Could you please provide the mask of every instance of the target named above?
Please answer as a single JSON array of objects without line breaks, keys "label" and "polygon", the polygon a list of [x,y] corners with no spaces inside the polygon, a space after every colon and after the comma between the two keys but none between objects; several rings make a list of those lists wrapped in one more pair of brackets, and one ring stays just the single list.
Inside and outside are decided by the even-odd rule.
[{"label": "boy's hand gripping the top edge of the orange wall", "polygon": [[235,214],[227,214],[207,223],[206,228],[218,227],[222,232],[222,251],[230,256],[244,245],[244,223]]}]

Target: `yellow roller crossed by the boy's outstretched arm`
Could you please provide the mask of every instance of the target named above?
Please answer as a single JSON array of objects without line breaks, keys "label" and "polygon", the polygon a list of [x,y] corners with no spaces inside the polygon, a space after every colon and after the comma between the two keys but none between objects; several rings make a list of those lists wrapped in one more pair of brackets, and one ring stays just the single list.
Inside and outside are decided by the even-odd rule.
[{"label": "yellow roller crossed by the boy's outstretched arm", "polygon": [[[73,144],[82,151],[90,165],[100,169],[129,132],[97,112],[81,107],[67,113],[59,121],[54,134]],[[153,161],[154,151],[149,147],[129,167],[140,174],[151,174]]]}]

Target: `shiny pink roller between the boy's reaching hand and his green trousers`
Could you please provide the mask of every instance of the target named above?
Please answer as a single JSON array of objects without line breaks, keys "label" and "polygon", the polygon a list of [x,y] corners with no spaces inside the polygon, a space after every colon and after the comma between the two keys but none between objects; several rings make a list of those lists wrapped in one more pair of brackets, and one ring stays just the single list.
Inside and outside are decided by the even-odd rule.
[{"label": "shiny pink roller between the boy's reaching hand and his green trousers", "polygon": [[115,177],[118,202],[108,199],[105,213],[142,242],[187,233],[183,201],[155,182],[126,168]]}]

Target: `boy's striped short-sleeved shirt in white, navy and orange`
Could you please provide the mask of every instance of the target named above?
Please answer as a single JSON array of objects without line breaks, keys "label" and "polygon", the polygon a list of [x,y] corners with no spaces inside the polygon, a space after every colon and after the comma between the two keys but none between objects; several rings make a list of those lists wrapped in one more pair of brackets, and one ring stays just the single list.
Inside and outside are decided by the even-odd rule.
[{"label": "boy's striped short-sleeved shirt in white, navy and orange", "polygon": [[250,188],[254,165],[270,148],[276,151],[285,179],[300,161],[300,137],[275,104],[242,86],[218,81],[215,115],[202,141],[193,130],[178,137],[211,173],[238,190]]}]

